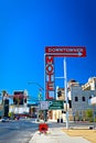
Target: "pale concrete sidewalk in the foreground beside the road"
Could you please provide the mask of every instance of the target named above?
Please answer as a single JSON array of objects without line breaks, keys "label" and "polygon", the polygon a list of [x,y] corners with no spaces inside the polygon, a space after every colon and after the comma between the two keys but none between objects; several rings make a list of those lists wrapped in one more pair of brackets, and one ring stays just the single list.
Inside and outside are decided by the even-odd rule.
[{"label": "pale concrete sidewalk in the foreground beside the road", "polygon": [[49,129],[47,133],[35,132],[29,143],[90,143],[82,136],[68,136],[62,129]]}]

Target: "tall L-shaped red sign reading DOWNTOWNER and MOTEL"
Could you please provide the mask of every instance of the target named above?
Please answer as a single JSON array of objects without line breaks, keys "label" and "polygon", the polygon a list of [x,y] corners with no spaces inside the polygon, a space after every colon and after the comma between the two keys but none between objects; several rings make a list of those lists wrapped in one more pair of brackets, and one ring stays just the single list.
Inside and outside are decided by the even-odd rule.
[{"label": "tall L-shaped red sign reading DOWNTOWNER and MOTEL", "polygon": [[54,57],[85,57],[85,46],[45,47],[45,99],[55,99]]}]

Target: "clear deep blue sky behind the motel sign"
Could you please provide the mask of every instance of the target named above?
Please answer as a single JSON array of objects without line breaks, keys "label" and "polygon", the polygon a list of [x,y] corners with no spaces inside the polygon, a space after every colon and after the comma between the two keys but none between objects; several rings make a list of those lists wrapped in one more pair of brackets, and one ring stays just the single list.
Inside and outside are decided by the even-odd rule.
[{"label": "clear deep blue sky behind the motel sign", "polygon": [[[81,84],[96,76],[95,0],[0,1],[0,91],[28,89],[36,97],[44,87],[45,46],[86,46],[87,57],[67,62],[67,80]],[[63,58],[55,58],[55,76],[63,75]],[[63,86],[63,80],[56,80]]]}]

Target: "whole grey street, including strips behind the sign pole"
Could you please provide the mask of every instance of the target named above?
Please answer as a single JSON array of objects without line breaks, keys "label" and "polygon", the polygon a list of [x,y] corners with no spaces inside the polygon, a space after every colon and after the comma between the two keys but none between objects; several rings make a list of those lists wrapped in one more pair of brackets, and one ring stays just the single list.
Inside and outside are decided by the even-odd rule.
[{"label": "whole grey street, including strips behind the sign pole", "polygon": [[[66,123],[47,122],[49,128],[65,129]],[[88,128],[93,123],[70,122],[70,128]],[[33,134],[38,131],[39,123],[35,119],[20,119],[9,122],[0,122],[0,143],[29,143]]]}]

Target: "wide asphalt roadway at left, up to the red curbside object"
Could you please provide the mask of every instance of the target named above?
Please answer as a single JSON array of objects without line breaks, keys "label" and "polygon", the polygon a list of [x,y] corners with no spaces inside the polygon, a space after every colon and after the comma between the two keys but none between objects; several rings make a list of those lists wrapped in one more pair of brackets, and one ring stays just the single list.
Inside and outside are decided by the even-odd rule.
[{"label": "wide asphalt roadway at left, up to the red curbside object", "polygon": [[0,143],[29,143],[36,130],[32,120],[0,122]]}]

